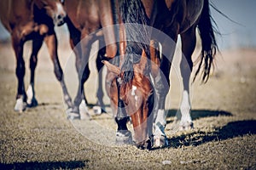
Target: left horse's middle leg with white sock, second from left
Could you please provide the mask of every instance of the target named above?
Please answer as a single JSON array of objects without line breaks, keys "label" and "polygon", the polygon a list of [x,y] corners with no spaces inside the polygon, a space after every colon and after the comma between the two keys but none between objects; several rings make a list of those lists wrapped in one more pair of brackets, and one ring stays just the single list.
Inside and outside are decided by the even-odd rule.
[{"label": "left horse's middle leg with white sock, second from left", "polygon": [[35,107],[38,105],[38,101],[35,98],[35,90],[34,90],[34,79],[35,79],[35,69],[38,64],[38,51],[42,47],[43,38],[39,37],[32,40],[32,54],[30,56],[30,85],[26,90],[26,103],[28,107]]}]

